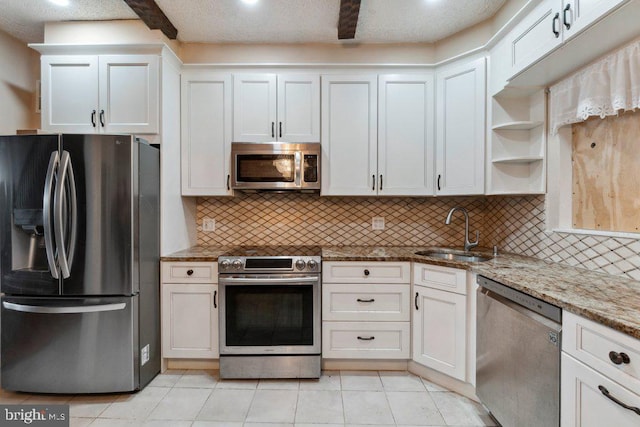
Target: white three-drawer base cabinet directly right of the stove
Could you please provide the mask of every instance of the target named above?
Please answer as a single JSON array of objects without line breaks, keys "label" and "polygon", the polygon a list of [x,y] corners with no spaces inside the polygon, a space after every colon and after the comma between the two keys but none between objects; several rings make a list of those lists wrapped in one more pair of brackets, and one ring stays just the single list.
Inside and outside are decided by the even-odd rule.
[{"label": "white three-drawer base cabinet directly right of the stove", "polygon": [[322,357],[408,359],[408,262],[324,262]]}]

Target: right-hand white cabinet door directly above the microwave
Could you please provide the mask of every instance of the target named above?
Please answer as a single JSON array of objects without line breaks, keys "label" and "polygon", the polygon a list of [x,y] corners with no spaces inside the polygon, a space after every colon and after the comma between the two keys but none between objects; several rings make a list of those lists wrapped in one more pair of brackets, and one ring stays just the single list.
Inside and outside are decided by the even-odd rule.
[{"label": "right-hand white cabinet door directly above the microwave", "polygon": [[278,75],[278,141],[320,141],[320,76]]}]

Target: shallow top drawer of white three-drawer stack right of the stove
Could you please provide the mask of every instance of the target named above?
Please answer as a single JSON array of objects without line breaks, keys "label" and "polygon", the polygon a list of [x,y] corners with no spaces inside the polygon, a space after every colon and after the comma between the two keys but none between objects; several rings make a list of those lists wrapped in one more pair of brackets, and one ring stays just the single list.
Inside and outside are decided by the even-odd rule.
[{"label": "shallow top drawer of white three-drawer stack right of the stove", "polygon": [[323,283],[409,283],[408,262],[323,262]]}]

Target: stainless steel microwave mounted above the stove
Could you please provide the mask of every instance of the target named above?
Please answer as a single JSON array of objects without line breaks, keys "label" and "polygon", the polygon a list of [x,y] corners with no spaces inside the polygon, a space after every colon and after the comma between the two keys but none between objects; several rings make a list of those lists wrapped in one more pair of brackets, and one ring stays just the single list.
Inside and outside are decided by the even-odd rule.
[{"label": "stainless steel microwave mounted above the stove", "polygon": [[231,186],[244,191],[319,191],[320,144],[231,144]]}]

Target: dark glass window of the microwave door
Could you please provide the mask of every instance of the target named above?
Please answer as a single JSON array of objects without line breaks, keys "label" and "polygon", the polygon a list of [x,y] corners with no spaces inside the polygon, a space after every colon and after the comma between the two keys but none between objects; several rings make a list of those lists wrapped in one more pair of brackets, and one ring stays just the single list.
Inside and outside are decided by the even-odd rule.
[{"label": "dark glass window of the microwave door", "polygon": [[294,182],[294,154],[239,154],[236,157],[239,182]]}]

